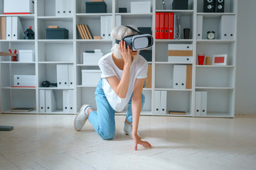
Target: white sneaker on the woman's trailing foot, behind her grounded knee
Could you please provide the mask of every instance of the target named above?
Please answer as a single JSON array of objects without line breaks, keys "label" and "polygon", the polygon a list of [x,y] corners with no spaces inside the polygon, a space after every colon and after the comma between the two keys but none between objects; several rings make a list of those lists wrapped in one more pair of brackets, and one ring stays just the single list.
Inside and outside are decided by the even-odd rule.
[{"label": "white sneaker on the woman's trailing foot, behind her grounded knee", "polygon": [[88,119],[88,113],[85,113],[85,109],[90,107],[90,105],[83,105],[78,112],[78,115],[74,120],[74,128],[76,131],[80,131],[85,125],[86,120]]}]

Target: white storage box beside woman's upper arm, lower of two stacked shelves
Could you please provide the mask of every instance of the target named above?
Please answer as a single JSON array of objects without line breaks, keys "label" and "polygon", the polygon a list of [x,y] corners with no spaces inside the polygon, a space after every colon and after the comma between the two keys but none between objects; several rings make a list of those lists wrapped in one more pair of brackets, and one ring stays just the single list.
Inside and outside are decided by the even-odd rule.
[{"label": "white storage box beside woman's upper arm, lower of two stacked shelves", "polygon": [[101,74],[100,69],[82,69],[82,86],[97,86]]}]

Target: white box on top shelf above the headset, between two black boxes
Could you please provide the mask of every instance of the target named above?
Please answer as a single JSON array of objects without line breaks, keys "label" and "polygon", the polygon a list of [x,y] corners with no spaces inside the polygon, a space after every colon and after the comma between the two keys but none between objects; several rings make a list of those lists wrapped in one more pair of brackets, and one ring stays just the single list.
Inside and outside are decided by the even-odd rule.
[{"label": "white box on top shelf above the headset, between two black boxes", "polygon": [[131,2],[131,13],[150,13],[150,1]]}]

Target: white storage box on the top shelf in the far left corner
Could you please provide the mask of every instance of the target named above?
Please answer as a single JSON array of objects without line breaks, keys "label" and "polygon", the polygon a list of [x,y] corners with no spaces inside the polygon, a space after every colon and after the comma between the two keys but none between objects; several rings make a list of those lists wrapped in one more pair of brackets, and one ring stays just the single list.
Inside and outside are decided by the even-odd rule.
[{"label": "white storage box on the top shelf in the far left corner", "polygon": [[34,13],[33,0],[4,0],[4,14]]}]

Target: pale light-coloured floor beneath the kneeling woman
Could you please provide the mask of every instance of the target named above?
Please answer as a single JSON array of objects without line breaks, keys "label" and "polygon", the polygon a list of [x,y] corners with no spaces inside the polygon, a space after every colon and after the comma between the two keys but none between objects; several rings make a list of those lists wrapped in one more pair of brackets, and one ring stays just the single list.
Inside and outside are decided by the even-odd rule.
[{"label": "pale light-coloured floor beneath the kneeling woman", "polygon": [[140,118],[152,149],[122,133],[101,140],[89,122],[73,130],[75,115],[0,115],[0,169],[256,169],[256,115],[232,118]]}]

